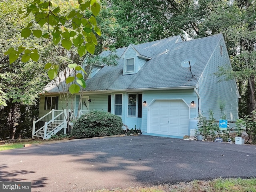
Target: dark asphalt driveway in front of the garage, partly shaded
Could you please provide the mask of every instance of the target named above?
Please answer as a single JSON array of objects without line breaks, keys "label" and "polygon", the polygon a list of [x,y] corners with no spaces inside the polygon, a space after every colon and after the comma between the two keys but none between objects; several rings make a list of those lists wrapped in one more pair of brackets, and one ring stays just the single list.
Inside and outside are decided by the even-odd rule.
[{"label": "dark asphalt driveway in front of the garage, partly shaded", "polygon": [[0,181],[82,192],[218,177],[256,177],[256,146],[126,136],[0,152]]}]

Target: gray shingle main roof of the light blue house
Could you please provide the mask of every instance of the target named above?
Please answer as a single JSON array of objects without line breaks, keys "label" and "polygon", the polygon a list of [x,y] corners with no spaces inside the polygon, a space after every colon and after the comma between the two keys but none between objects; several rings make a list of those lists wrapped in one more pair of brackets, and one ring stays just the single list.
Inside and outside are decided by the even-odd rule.
[{"label": "gray shingle main roof of the light blue house", "polygon": [[[116,67],[105,66],[86,80],[86,91],[147,89],[164,87],[196,86],[214,49],[222,38],[222,34],[177,42],[180,36],[163,40],[134,45],[134,48],[144,56],[151,56],[137,74],[123,75],[124,60],[119,59]],[[167,49],[167,54],[166,53]],[[116,49],[121,56],[126,48]],[[103,54],[108,54],[104,52]],[[184,59],[195,58],[196,63],[191,70],[180,64]],[[48,92],[58,92],[54,87],[45,88]]]}]

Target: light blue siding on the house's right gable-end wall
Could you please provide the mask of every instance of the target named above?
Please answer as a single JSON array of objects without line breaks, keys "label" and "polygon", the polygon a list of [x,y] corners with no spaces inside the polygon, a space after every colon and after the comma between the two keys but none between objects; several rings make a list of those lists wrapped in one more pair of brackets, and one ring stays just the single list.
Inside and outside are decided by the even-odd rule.
[{"label": "light blue siding on the house's right gable-end wall", "polygon": [[[223,55],[220,55],[220,46],[223,46]],[[232,79],[225,81],[224,77],[214,75],[220,66],[229,66],[230,62],[223,39],[219,42],[212,57],[198,82],[198,93],[201,97],[201,112],[208,117],[209,110],[213,110],[216,120],[221,118],[220,103],[225,104],[224,114],[229,121],[238,118],[238,89]]]}]

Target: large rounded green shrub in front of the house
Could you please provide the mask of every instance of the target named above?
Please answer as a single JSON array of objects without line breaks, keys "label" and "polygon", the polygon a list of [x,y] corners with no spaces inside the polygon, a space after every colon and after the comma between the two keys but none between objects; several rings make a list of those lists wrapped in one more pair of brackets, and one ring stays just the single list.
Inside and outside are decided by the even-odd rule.
[{"label": "large rounded green shrub in front of the house", "polygon": [[76,138],[100,137],[122,133],[121,117],[104,111],[89,111],[76,120],[72,135]]}]

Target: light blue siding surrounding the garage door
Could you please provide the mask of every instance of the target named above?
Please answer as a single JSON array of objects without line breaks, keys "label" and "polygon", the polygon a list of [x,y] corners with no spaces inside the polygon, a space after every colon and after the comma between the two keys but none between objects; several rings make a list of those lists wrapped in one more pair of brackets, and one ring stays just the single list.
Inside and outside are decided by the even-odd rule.
[{"label": "light blue siding surrounding the garage door", "polygon": [[144,91],[142,101],[146,101],[146,105],[142,106],[142,132],[147,131],[148,123],[148,105],[153,99],[184,99],[190,105],[191,101],[195,102],[195,107],[190,107],[190,119],[197,117],[198,97],[194,89],[179,90],[161,90],[161,91]]}]

